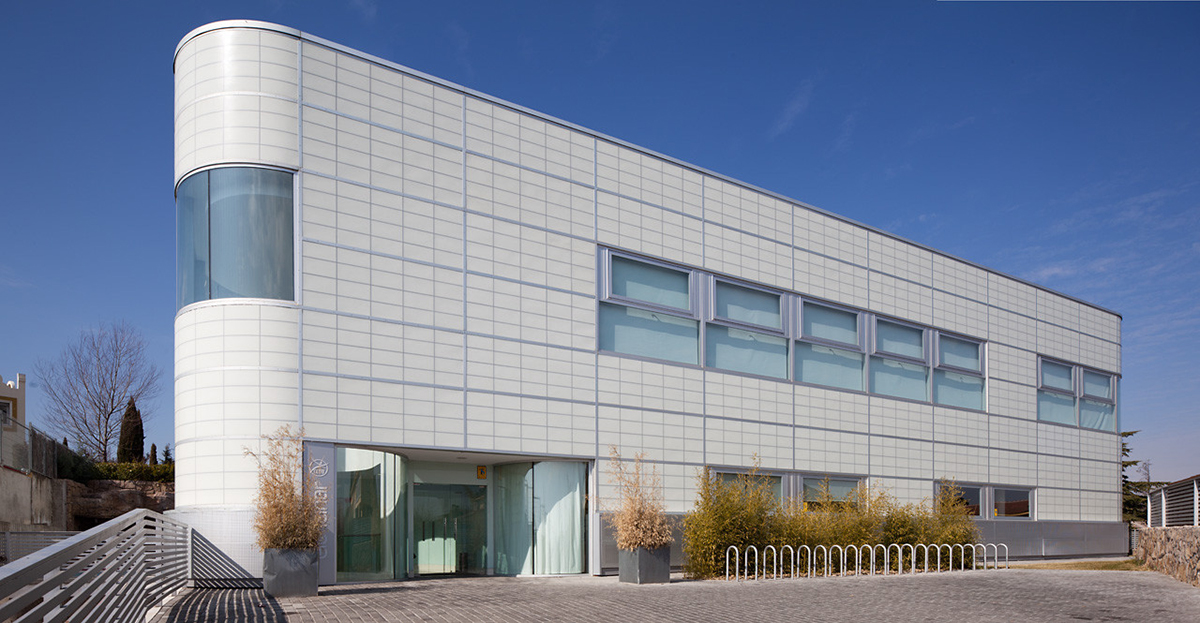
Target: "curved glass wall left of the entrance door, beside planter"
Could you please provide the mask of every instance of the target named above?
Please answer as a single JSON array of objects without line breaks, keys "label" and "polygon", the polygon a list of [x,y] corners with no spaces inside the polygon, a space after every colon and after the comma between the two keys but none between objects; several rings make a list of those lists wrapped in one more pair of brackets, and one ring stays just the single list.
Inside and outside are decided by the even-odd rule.
[{"label": "curved glass wall left of the entrance door, beside planter", "polygon": [[408,575],[407,466],[402,456],[337,449],[337,581]]}]

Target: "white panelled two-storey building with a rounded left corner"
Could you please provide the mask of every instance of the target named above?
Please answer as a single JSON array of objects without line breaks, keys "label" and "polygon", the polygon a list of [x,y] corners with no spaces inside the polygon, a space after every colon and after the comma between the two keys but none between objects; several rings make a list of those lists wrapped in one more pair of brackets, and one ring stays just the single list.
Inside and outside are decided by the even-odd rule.
[{"label": "white panelled two-storey building with a rounded left corner", "polygon": [[1116,313],[293,29],[174,71],[178,514],[248,573],[284,424],[324,582],[614,567],[610,445],[1126,551]]}]

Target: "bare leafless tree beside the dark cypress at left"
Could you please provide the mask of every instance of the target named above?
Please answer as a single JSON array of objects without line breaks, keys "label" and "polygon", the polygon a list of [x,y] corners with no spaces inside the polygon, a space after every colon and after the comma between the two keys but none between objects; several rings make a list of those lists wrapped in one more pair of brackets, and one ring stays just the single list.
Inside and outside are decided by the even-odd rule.
[{"label": "bare leafless tree beside the dark cypress at left", "polygon": [[38,360],[35,371],[49,399],[50,426],[100,461],[114,456],[125,406],[156,396],[162,376],[146,358],[142,334],[124,321],[82,331],[58,358]]}]

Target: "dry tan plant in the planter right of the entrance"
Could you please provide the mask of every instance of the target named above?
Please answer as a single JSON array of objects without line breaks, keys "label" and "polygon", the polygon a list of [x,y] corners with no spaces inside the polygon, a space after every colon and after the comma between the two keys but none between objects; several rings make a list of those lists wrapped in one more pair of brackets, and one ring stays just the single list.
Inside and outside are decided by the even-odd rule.
[{"label": "dry tan plant in the planter right of the entrance", "polygon": [[662,479],[654,467],[646,468],[638,453],[632,463],[620,460],[617,447],[608,448],[608,466],[617,483],[617,508],[610,520],[617,533],[617,547],[653,550],[671,545],[671,526],[662,507]]}]

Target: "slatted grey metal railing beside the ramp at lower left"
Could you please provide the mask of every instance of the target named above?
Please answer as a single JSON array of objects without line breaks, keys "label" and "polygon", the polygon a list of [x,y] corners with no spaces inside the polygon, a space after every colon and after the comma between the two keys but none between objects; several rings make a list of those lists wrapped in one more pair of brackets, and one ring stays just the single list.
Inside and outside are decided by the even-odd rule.
[{"label": "slatted grey metal railing beside the ramp at lower left", "polygon": [[190,532],[137,509],[0,567],[0,621],[143,621],[187,581]]}]

